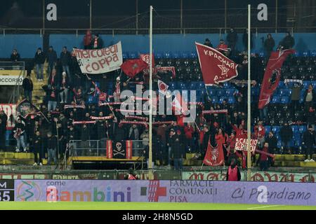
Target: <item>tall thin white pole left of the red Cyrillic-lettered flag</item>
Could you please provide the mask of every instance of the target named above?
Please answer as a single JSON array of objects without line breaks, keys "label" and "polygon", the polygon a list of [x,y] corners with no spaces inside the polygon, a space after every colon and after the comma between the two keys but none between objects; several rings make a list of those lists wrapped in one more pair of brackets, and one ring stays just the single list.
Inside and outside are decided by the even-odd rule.
[{"label": "tall thin white pole left of the red Cyrillic-lettered flag", "polygon": [[152,6],[150,6],[150,119],[149,119],[149,179],[152,180]]}]

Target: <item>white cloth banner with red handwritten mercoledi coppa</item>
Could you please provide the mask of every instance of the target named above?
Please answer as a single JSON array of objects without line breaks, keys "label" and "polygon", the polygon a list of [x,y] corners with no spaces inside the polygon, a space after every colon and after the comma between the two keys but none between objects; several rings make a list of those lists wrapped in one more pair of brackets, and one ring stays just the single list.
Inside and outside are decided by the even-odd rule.
[{"label": "white cloth banner with red handwritten mercoledi coppa", "polygon": [[82,50],[74,48],[82,73],[99,74],[114,71],[123,63],[121,41],[107,48]]}]

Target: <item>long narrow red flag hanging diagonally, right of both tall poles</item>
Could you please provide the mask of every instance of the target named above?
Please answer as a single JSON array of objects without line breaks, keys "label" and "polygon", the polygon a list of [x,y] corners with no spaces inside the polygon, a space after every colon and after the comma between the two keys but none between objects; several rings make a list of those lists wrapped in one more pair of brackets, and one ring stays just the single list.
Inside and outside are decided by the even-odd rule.
[{"label": "long narrow red flag hanging diagonally, right of both tall poles", "polygon": [[265,105],[269,104],[270,97],[279,85],[281,78],[281,67],[287,55],[294,54],[295,50],[280,50],[272,52],[269,58],[268,65],[265,69],[265,75],[263,76],[260,97],[259,97],[259,109],[263,109]]}]

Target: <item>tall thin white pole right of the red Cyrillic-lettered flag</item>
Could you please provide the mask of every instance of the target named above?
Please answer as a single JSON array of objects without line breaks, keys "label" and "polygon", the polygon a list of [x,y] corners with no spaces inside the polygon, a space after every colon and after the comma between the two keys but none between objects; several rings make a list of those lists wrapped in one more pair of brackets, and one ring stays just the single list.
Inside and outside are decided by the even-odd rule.
[{"label": "tall thin white pole right of the red Cyrillic-lettered flag", "polygon": [[247,181],[250,181],[251,179],[251,77],[250,77],[250,41],[251,41],[251,5],[248,5],[248,99],[247,99],[247,105],[248,105],[248,118],[247,118]]}]

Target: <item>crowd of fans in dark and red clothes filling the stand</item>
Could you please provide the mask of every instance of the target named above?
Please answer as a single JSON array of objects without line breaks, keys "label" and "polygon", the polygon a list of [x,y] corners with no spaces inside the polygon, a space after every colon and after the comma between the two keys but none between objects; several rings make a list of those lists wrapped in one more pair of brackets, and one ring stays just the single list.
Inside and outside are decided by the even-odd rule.
[{"label": "crowd of fans in dark and red clothes filling the stand", "polygon": [[[220,40],[218,50],[228,57],[234,58],[241,65],[237,79],[246,80],[247,55],[243,52],[237,52],[237,33],[234,29],[230,29],[226,41],[227,44],[224,40]],[[246,50],[246,31],[243,36],[243,43],[244,50]],[[206,39],[205,45],[213,46],[209,39]],[[253,87],[260,87],[264,73],[264,66],[258,63],[258,60],[266,62],[272,50],[275,50],[275,41],[271,34],[263,39],[263,45],[266,57],[259,58],[258,55],[253,55],[251,59],[251,62],[254,63],[251,71],[251,76],[254,77],[254,81],[251,82]],[[288,33],[277,48],[292,48],[293,45],[294,38]],[[92,37],[91,32],[88,31],[84,36],[84,48],[103,48],[103,41],[98,34]],[[20,59],[17,50],[13,51],[11,59],[13,61]],[[129,78],[120,71],[87,76],[81,73],[73,52],[69,52],[64,47],[58,58],[51,46],[46,54],[41,48],[35,54],[34,64],[36,65],[37,80],[44,79],[45,61],[48,62],[49,78],[45,80],[46,85],[43,86],[43,91],[46,92],[44,104],[39,108],[41,113],[34,113],[27,118],[18,116],[13,129],[17,139],[17,152],[33,151],[35,154],[34,165],[42,165],[41,159],[45,158],[47,153],[48,165],[50,165],[52,160],[56,164],[58,158],[63,158],[66,149],[71,146],[72,140],[81,140],[81,148],[87,149],[78,152],[79,155],[91,155],[88,140],[112,139],[113,141],[122,141],[129,139],[142,141],[143,151],[141,155],[148,158],[149,136],[146,125],[120,124],[121,120],[126,120],[126,118],[116,110],[119,109],[119,104],[99,106],[98,103],[88,103],[92,97],[98,97],[98,100],[102,100],[102,102],[119,102],[119,97],[115,96],[123,90],[134,89],[135,83],[143,85],[143,91],[147,90],[148,77],[144,73],[139,73],[134,78]],[[35,77],[32,78],[34,80]],[[169,73],[158,73],[154,76],[155,90],[157,90],[157,80],[163,80],[168,84],[173,78]],[[237,89],[234,93],[236,103],[229,104],[228,99],[224,99],[221,104],[213,104],[211,101],[213,96],[205,94],[204,102],[197,105],[197,119],[192,123],[179,123],[176,116],[153,116],[153,122],[164,123],[164,125],[154,125],[152,135],[153,160],[159,161],[157,165],[171,165],[173,162],[176,169],[182,169],[182,159],[185,158],[186,153],[195,153],[195,159],[203,159],[210,139],[212,146],[216,146],[219,142],[224,144],[225,164],[230,165],[232,161],[238,161],[237,159],[241,158],[242,167],[246,168],[246,154],[235,150],[235,140],[246,138],[247,89],[246,84],[242,82],[232,83],[232,85]],[[22,86],[25,90],[25,98],[32,102],[33,83],[30,73],[27,74]],[[300,104],[301,91],[301,85],[295,84],[291,94],[291,104],[293,105],[291,116],[294,116],[294,113],[302,108],[307,118],[305,123],[308,125],[308,130],[303,133],[302,142],[305,151],[296,153],[305,152],[306,160],[313,161],[316,94],[310,85],[308,90],[305,90],[303,104]],[[268,120],[267,109],[259,111],[257,104],[258,99],[254,100],[251,106],[251,124],[254,124],[252,137],[258,139],[258,148],[272,154],[294,153],[289,147],[289,142],[294,134],[290,124],[284,123],[281,127],[282,147],[279,148],[275,133],[272,130],[268,132],[265,130],[264,125]],[[73,106],[65,107],[65,105]],[[202,113],[202,111],[208,110],[227,110],[228,112],[205,115]],[[96,123],[74,124],[74,121],[91,121],[93,120],[92,117],[104,118],[107,116],[110,116],[111,119],[96,120]],[[5,135],[7,119],[6,115],[0,112],[1,138],[4,138]],[[1,139],[0,144],[3,142]],[[252,157],[254,162],[257,165],[260,164],[263,170],[273,165],[272,158],[265,154],[260,154],[258,160],[256,160],[255,155]]]}]

